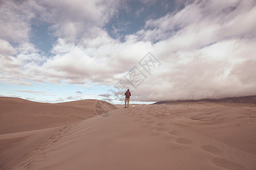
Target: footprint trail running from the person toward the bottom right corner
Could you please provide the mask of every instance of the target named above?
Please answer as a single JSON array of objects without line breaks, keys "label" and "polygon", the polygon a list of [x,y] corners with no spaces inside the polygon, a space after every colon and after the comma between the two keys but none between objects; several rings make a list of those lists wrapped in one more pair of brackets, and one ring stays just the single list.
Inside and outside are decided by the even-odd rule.
[{"label": "footprint trail running from the person toward the bottom right corner", "polygon": [[[152,130],[150,132],[151,136],[158,136],[161,133],[168,133],[169,135],[171,135],[172,139],[171,142],[168,143],[167,147],[171,148],[171,149],[177,149],[177,148],[181,148],[181,147],[186,147],[188,145],[192,145],[193,142],[187,138],[181,138],[179,137],[181,135],[181,132],[178,130],[170,130],[168,128],[166,128],[166,123],[164,122],[155,122],[152,120],[151,117],[147,117],[145,116],[145,114],[140,113],[137,114],[135,112],[129,111],[128,113],[126,113],[128,115],[128,117],[135,117],[135,121],[139,122],[141,121],[141,128],[146,128],[148,126],[156,126],[156,128],[154,130]],[[212,145],[203,145],[200,147],[201,150],[208,152],[209,154],[212,154],[216,157],[213,157],[213,159],[211,160],[211,162],[221,168],[227,168],[227,169],[244,169],[244,167],[241,164],[237,164],[234,162],[231,162],[227,159],[224,158],[220,158],[222,155],[222,152],[220,150],[218,150],[218,148],[212,146]],[[218,156],[218,157],[217,157]]]}]

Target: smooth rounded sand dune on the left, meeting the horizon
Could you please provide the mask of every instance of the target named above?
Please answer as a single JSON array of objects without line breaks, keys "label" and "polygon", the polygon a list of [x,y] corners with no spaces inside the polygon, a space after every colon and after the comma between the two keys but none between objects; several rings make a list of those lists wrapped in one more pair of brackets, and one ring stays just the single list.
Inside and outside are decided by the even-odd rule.
[{"label": "smooth rounded sand dune on the left, meeting the horizon", "polygon": [[50,104],[0,97],[0,134],[73,124],[97,116],[97,102],[80,100]]}]

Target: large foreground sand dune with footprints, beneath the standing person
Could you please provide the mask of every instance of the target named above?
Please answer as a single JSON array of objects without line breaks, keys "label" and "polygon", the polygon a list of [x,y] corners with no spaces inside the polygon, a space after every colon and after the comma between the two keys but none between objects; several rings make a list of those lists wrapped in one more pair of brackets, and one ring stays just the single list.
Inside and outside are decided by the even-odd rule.
[{"label": "large foreground sand dune with footprints, beneath the standing person", "polygon": [[[240,107],[183,103],[120,108],[110,117],[58,129],[16,169],[256,169],[255,107]],[[15,136],[21,135],[0,139]]]}]

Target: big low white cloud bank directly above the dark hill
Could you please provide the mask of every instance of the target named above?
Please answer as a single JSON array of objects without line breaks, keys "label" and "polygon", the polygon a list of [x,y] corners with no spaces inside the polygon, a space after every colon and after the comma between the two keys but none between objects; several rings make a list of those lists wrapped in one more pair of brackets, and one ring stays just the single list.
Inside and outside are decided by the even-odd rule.
[{"label": "big low white cloud bank directly above the dark hill", "polygon": [[170,53],[169,59],[155,54],[162,65],[134,95],[147,101],[255,95],[255,42],[255,38],[220,41]]}]

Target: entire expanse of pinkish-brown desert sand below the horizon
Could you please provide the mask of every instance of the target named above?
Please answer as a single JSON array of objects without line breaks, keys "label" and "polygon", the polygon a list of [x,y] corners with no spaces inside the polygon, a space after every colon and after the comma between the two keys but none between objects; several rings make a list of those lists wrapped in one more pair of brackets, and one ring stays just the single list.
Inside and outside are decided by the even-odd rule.
[{"label": "entire expanse of pinkish-brown desert sand below the horizon", "polygon": [[256,169],[254,104],[0,100],[0,169]]}]

